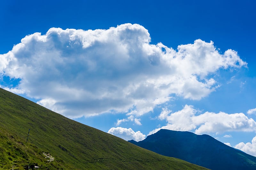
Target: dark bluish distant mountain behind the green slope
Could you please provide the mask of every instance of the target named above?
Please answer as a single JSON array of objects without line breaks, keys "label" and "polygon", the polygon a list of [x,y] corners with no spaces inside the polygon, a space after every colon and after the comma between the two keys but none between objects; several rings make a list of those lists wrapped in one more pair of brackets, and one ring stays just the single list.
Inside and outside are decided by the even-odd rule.
[{"label": "dark bluish distant mountain behind the green slope", "polygon": [[229,147],[209,135],[161,129],[143,141],[128,142],[212,170],[256,169],[256,157]]}]

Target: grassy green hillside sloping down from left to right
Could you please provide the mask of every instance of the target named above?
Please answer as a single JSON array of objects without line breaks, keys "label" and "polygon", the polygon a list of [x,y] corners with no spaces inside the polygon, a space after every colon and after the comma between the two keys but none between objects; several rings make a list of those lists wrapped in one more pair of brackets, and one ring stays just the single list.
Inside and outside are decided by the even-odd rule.
[{"label": "grassy green hillside sloping down from left to right", "polygon": [[[47,161],[50,158],[45,158],[43,152],[54,160]],[[39,166],[39,169],[205,169],[140,148],[0,88],[0,169],[28,166]]]}]

